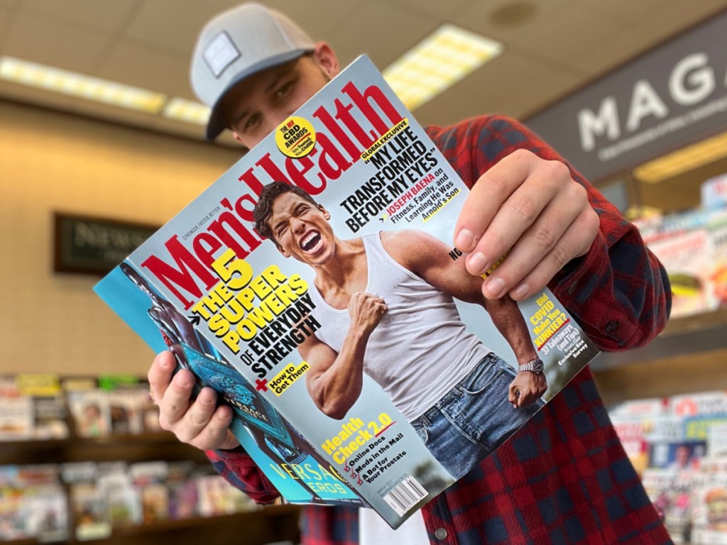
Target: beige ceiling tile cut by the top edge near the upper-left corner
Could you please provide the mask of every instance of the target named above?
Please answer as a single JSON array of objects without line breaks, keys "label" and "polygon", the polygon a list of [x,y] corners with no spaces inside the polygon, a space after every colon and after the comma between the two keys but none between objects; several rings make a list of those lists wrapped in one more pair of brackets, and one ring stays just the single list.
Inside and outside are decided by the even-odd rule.
[{"label": "beige ceiling tile cut by the top edge near the upper-left corner", "polygon": [[23,0],[20,12],[56,23],[114,32],[137,4],[135,0]]}]

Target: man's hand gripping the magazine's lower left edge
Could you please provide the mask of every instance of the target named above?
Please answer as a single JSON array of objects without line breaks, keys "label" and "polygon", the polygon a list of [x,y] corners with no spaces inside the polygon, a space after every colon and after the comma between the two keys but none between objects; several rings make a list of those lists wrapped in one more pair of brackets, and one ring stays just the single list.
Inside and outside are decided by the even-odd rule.
[{"label": "man's hand gripping the magazine's lower left edge", "polygon": [[149,369],[150,395],[159,407],[159,424],[174,433],[182,443],[211,450],[235,448],[240,443],[228,427],[232,409],[217,407],[217,392],[203,388],[192,400],[194,375],[187,369],[174,374],[176,360],[172,352],[161,352]]}]

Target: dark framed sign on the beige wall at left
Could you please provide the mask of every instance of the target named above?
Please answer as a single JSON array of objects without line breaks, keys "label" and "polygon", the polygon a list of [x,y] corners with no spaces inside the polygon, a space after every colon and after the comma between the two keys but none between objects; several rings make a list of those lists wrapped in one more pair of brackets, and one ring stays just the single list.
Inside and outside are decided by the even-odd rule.
[{"label": "dark framed sign on the beige wall at left", "polygon": [[54,214],[53,270],[62,273],[105,275],[119,265],[158,226],[116,219]]}]

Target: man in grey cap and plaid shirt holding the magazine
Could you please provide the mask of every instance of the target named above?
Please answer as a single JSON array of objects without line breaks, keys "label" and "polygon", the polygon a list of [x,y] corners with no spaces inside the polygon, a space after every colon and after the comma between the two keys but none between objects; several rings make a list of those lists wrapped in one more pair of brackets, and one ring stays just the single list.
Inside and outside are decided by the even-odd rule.
[{"label": "man in grey cap and plaid shirt holding the magazine", "polygon": [[[339,71],[332,49],[277,12],[244,4],[210,21],[191,68],[198,96],[213,107],[210,139],[230,129],[251,148]],[[452,226],[454,246],[481,275],[487,299],[521,300],[544,286],[601,350],[646,344],[670,309],[663,267],[638,230],[545,142],[515,121],[472,118],[429,127],[471,187]],[[163,352],[149,371],[162,427],[207,451],[230,483],[261,503],[278,497],[228,431],[229,407],[212,389],[192,399],[194,379],[172,379]],[[497,452],[424,506],[393,536],[370,510],[306,506],[305,545],[662,544],[656,510],[619,443],[593,376],[583,369]],[[382,526],[384,528],[382,528]],[[380,533],[379,533],[380,530]]]}]

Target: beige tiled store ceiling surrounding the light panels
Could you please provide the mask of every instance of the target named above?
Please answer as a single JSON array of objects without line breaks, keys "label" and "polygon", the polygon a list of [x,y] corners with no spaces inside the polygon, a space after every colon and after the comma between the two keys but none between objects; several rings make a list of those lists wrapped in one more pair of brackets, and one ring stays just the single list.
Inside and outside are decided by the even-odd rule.
[{"label": "beige tiled store ceiling surrounding the light panels", "polygon": [[[236,0],[0,0],[0,55],[193,99],[188,58],[201,24]],[[345,64],[385,68],[449,22],[505,53],[415,113],[449,124],[477,113],[531,113],[727,9],[727,0],[309,0],[286,12]],[[0,97],[202,138],[199,126],[0,82]],[[222,143],[230,143],[223,139]]]}]

